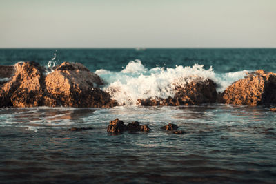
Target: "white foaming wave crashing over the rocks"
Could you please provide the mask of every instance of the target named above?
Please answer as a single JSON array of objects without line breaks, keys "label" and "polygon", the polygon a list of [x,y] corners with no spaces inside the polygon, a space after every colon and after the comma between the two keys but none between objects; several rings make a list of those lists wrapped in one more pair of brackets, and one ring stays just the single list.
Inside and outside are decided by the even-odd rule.
[{"label": "white foaming wave crashing over the rocks", "polygon": [[215,73],[213,68],[204,65],[176,65],[175,68],[146,68],[139,59],[130,61],[120,72],[96,70],[95,73],[106,81],[102,90],[108,92],[120,105],[136,105],[137,99],[168,98],[174,96],[175,85],[184,86],[200,77],[217,83],[217,91],[223,92],[231,83],[244,78],[248,70]]}]

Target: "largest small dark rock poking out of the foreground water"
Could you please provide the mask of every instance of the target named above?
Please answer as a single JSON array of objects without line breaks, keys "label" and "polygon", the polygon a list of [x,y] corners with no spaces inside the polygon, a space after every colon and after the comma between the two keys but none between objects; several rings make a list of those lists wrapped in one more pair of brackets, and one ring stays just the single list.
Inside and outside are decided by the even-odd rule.
[{"label": "largest small dark rock poking out of the foreground water", "polygon": [[107,132],[120,134],[124,131],[148,132],[148,131],[150,131],[150,128],[147,125],[140,125],[140,123],[138,121],[133,121],[132,123],[128,123],[128,125],[124,125],[124,122],[119,119],[115,119],[115,120],[109,122]]}]

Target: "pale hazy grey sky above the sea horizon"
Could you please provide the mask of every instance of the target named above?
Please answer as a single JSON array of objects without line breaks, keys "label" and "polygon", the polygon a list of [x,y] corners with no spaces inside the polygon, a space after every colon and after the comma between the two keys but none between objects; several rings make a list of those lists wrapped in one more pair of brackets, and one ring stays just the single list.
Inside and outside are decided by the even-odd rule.
[{"label": "pale hazy grey sky above the sea horizon", "polygon": [[276,0],[0,0],[1,48],[276,47]]}]

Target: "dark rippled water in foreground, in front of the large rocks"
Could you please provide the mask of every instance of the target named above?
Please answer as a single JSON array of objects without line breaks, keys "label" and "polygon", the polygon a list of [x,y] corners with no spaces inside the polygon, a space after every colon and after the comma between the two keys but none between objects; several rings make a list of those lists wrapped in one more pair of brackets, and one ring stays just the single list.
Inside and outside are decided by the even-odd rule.
[{"label": "dark rippled water in foreground, in front of the large rocks", "polygon": [[[264,107],[8,108],[0,114],[0,181],[276,181],[276,114]],[[108,121],[117,117],[152,131],[108,134]],[[166,123],[186,133],[160,130]]]}]

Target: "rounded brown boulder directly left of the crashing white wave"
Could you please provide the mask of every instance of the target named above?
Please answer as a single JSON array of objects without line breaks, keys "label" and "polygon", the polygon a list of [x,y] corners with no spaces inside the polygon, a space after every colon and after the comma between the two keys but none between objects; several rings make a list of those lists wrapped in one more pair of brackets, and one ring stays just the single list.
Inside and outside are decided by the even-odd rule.
[{"label": "rounded brown boulder directly left of the crashing white wave", "polygon": [[103,81],[80,63],[62,63],[45,79],[47,94],[44,104],[47,106],[70,107],[113,107],[117,105],[110,94],[94,85]]}]

